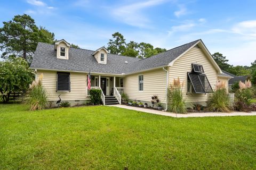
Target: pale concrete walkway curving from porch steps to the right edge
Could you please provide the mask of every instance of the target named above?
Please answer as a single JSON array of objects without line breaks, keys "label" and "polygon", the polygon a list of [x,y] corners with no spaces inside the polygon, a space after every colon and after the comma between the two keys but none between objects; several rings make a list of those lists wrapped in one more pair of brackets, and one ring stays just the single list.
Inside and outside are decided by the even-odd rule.
[{"label": "pale concrete walkway curving from porch steps to the right edge", "polygon": [[170,116],[170,117],[214,117],[214,116],[256,116],[256,112],[246,113],[246,112],[231,112],[231,113],[222,113],[222,112],[207,112],[207,113],[187,113],[187,114],[176,114],[171,112],[157,111],[153,109],[147,109],[143,107],[132,107],[126,105],[110,105],[119,108],[130,109],[133,111],[146,112],[156,115]]}]

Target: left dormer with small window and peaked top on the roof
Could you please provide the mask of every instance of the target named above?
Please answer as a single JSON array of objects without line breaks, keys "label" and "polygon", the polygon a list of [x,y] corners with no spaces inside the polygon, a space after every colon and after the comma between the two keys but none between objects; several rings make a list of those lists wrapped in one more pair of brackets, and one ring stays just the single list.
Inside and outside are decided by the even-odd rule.
[{"label": "left dormer with small window and peaked top on the roof", "polygon": [[69,48],[71,45],[64,39],[56,41],[54,49],[57,50],[57,58],[68,60]]}]

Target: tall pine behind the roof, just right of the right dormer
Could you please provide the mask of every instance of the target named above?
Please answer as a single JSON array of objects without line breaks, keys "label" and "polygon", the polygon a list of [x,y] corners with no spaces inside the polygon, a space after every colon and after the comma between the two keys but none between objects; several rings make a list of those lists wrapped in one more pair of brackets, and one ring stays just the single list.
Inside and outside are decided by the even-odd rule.
[{"label": "tall pine behind the roof, just right of the right dormer", "polygon": [[125,39],[124,36],[119,33],[119,32],[115,32],[112,35],[113,39],[109,39],[108,42],[108,50],[111,54],[122,54],[125,52],[125,48],[126,48],[126,43],[125,43]]}]

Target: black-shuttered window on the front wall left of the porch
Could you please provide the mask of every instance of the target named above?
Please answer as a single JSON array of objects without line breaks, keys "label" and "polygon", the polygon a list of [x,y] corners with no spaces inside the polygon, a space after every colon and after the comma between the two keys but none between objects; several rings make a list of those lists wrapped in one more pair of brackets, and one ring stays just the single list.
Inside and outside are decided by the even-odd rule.
[{"label": "black-shuttered window on the front wall left of the porch", "polygon": [[70,91],[70,73],[57,72],[56,91]]}]

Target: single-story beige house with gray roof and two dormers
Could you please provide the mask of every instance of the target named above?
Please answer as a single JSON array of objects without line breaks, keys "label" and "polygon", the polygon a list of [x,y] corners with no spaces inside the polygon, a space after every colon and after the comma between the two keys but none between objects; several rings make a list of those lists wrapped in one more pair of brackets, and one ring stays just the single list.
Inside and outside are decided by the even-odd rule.
[{"label": "single-story beige house with gray roof and two dormers", "polygon": [[38,43],[30,67],[36,79],[43,74],[42,84],[52,104],[58,95],[73,105],[84,103],[89,72],[91,88],[101,89],[103,104],[121,104],[125,93],[130,100],[148,105],[151,96],[157,95],[164,107],[173,79],[184,83],[187,104],[205,104],[217,82],[228,84],[231,78],[221,71],[201,39],[144,59],[110,54],[105,47],[72,48],[62,39],[54,45]]}]

